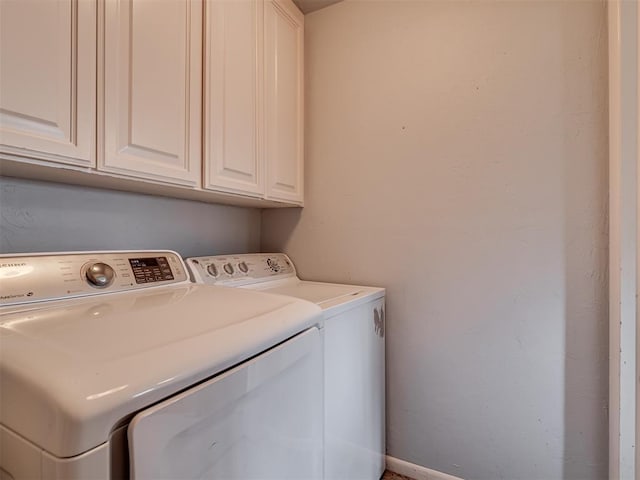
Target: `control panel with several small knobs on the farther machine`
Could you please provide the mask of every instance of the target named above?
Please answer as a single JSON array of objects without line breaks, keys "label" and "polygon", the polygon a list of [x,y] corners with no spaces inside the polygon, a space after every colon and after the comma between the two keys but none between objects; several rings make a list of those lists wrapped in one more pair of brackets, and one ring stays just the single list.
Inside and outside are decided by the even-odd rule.
[{"label": "control panel with several small knobs on the farther machine", "polygon": [[186,262],[199,283],[239,285],[296,276],[293,262],[284,253],[192,257]]}]

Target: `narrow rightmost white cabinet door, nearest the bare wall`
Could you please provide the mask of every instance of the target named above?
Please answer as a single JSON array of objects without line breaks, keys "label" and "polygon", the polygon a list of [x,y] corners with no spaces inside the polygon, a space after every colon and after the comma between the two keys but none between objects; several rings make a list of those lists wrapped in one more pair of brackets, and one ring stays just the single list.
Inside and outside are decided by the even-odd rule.
[{"label": "narrow rightmost white cabinet door, nearest the bare wall", "polygon": [[304,17],[291,0],[264,15],[266,197],[302,203]]}]

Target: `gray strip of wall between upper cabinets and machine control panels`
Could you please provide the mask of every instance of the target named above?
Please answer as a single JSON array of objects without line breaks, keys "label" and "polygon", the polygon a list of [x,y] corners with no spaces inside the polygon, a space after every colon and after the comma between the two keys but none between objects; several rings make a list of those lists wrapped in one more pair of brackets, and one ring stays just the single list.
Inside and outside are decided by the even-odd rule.
[{"label": "gray strip of wall between upper cabinets and machine control panels", "polygon": [[259,247],[257,209],[0,177],[0,253]]}]

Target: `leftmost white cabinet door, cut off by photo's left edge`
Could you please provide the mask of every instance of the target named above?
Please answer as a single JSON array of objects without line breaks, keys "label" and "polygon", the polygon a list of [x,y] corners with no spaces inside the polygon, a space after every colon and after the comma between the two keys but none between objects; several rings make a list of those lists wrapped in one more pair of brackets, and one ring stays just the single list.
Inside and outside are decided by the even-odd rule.
[{"label": "leftmost white cabinet door, cut off by photo's left edge", "polygon": [[0,1],[0,150],[95,165],[96,3]]}]

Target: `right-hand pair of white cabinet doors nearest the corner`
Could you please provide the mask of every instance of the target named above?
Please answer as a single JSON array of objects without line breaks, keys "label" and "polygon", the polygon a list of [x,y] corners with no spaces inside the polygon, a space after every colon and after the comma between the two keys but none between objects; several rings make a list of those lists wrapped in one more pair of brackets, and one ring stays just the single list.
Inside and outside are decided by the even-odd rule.
[{"label": "right-hand pair of white cabinet doors nearest the corner", "polygon": [[205,188],[301,204],[304,17],[290,0],[205,10]]}]

